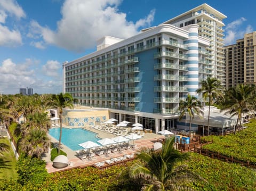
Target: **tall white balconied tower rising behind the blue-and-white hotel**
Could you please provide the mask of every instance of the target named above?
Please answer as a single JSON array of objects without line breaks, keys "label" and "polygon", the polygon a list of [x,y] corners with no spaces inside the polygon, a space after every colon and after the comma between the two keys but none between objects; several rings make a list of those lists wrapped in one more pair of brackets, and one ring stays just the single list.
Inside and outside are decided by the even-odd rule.
[{"label": "tall white balconied tower rising behind the blue-and-white hotel", "polygon": [[226,84],[226,66],[223,61],[224,30],[222,29],[225,26],[222,20],[225,18],[227,18],[226,15],[204,3],[164,22],[164,24],[172,24],[180,28],[186,27],[189,24],[199,25],[198,35],[210,40],[210,46],[206,48],[207,56],[204,57],[205,64],[202,69],[202,77],[199,80],[215,77],[221,81],[223,86]]}]

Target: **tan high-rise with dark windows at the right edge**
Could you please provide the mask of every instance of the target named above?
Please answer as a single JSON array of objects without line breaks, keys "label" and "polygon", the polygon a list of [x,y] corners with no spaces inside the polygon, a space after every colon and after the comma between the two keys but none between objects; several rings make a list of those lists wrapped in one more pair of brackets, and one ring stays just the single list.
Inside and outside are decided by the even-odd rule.
[{"label": "tan high-rise with dark windows at the right edge", "polygon": [[256,31],[224,48],[227,89],[237,84],[256,84]]}]

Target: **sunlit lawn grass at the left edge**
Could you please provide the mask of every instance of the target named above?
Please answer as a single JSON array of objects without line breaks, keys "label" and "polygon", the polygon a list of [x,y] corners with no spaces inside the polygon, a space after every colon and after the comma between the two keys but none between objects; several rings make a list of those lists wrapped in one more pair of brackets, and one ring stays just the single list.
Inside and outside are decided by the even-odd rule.
[{"label": "sunlit lawn grass at the left edge", "polygon": [[18,175],[15,170],[16,158],[12,151],[11,144],[8,138],[0,138],[0,143],[5,143],[10,146],[9,152],[3,152],[3,156],[0,156],[0,181],[17,179]]}]

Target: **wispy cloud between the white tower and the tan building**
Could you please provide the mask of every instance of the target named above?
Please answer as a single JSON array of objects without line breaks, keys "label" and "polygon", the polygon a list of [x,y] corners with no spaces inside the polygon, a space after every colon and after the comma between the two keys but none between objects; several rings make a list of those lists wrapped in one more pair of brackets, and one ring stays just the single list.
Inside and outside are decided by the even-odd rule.
[{"label": "wispy cloud between the white tower and the tan building", "polygon": [[247,25],[246,29],[243,28],[243,24],[246,21],[245,18],[237,19],[233,22],[227,24],[226,38],[224,39],[225,45],[235,44],[236,40],[244,38],[244,34],[250,33],[253,31],[251,25]]}]

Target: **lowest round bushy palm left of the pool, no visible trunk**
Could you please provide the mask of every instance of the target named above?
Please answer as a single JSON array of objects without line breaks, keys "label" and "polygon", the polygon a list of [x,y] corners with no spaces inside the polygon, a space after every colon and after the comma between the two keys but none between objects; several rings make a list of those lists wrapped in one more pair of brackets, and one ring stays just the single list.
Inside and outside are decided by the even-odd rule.
[{"label": "lowest round bushy palm left of the pool, no visible trunk", "polygon": [[47,152],[49,138],[46,131],[38,128],[29,130],[29,133],[21,140],[19,146],[23,152],[31,157],[37,157]]}]

